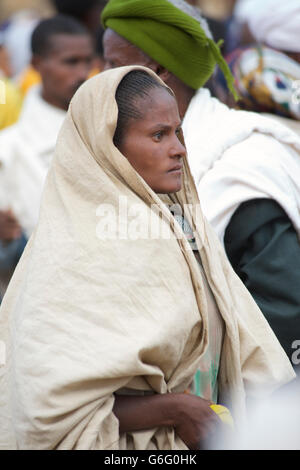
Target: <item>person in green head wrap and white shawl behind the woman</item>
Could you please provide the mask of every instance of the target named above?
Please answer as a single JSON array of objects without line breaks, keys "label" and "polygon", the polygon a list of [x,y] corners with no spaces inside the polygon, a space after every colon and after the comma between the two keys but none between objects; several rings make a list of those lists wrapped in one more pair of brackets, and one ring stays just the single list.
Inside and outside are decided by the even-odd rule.
[{"label": "person in green head wrap and white shawl behind the woman", "polygon": [[108,68],[144,65],[174,90],[204,214],[292,361],[300,337],[300,138],[202,88],[216,59],[229,86],[231,74],[186,2],[110,0],[102,21]]}]

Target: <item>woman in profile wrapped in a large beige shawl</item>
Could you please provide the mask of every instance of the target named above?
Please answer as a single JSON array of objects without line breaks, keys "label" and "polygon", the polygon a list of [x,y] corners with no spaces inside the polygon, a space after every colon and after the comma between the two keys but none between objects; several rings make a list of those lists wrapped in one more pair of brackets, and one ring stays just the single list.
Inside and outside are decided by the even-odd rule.
[{"label": "woman in profile wrapped in a large beige shawl", "polygon": [[[0,311],[2,447],[197,448],[215,397],[242,423],[246,398],[294,377],[202,217],[180,133],[143,67],[73,98]],[[184,393],[207,365],[202,397]]]}]

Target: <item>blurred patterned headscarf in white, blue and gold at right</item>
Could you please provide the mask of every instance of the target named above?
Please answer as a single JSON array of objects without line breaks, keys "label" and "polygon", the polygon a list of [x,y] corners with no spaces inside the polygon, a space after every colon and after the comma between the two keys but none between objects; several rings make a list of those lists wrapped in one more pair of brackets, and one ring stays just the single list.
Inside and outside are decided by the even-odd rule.
[{"label": "blurred patterned headscarf in white, blue and gold at right", "polygon": [[[237,107],[300,119],[300,64],[268,47],[236,49],[227,57],[240,95]],[[217,85],[226,92],[221,74]]]}]

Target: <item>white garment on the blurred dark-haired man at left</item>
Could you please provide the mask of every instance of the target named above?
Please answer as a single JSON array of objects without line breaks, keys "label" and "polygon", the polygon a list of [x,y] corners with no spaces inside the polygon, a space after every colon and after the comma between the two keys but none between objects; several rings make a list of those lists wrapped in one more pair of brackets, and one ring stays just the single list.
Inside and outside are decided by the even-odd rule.
[{"label": "white garment on the blurred dark-haired man at left", "polygon": [[0,133],[0,209],[11,207],[29,237],[66,112],[48,104],[40,87],[27,95],[19,121]]}]

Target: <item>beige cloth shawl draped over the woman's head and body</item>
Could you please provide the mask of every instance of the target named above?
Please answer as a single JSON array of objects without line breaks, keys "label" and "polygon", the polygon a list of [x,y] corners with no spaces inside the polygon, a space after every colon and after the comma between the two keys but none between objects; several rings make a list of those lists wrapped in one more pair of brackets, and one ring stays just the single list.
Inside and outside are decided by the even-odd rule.
[{"label": "beige cloth shawl draped over the woman's head and body", "polygon": [[[143,69],[94,77],[70,105],[38,227],[0,310],[7,352],[0,368],[0,448],[185,448],[165,428],[120,438],[112,413],[113,393],[123,387],[184,391],[207,346],[197,261],[162,200],[112,142],[116,88],[137,68]],[[172,199],[193,205],[187,215],[226,324],[219,385],[238,424],[246,393],[270,392],[294,374],[203,219],[187,162],[184,172],[182,191]],[[101,239],[101,208],[117,209],[120,196],[127,197],[134,223],[136,204],[143,217],[154,218],[150,206],[157,204],[169,239],[120,239],[125,216],[112,231],[115,239]]]}]

